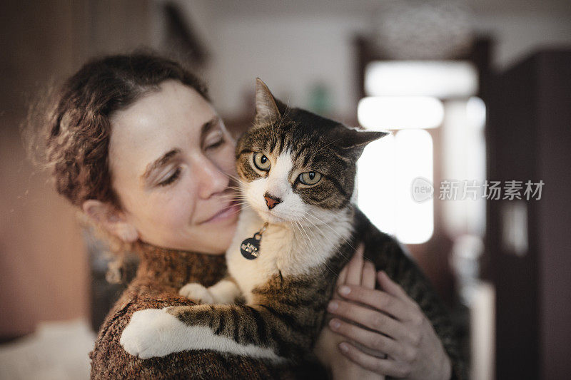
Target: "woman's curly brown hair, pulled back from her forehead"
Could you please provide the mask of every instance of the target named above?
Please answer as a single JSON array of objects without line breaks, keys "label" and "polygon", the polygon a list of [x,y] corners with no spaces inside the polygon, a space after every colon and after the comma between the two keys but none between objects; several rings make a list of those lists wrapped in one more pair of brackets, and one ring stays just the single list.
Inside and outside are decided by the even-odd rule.
[{"label": "woman's curly brown hair, pulled back from her forehead", "polygon": [[[180,81],[209,100],[197,76],[156,53],[136,51],[92,59],[61,86],[51,86],[31,107],[22,131],[31,160],[49,171],[56,191],[80,210],[89,199],[123,210],[108,162],[111,116],[158,90],[168,79]],[[96,230],[103,232],[112,251],[124,250],[116,239]]]}]

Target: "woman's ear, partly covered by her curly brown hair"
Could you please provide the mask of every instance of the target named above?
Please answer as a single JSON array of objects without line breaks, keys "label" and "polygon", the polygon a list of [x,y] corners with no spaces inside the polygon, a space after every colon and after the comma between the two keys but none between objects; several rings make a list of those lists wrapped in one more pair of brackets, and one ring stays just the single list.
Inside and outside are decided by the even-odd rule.
[{"label": "woman's ear, partly covered by her curly brown hair", "polygon": [[128,222],[124,213],[116,207],[100,200],[89,199],[81,208],[91,220],[123,242],[135,242],[138,239],[135,226]]}]

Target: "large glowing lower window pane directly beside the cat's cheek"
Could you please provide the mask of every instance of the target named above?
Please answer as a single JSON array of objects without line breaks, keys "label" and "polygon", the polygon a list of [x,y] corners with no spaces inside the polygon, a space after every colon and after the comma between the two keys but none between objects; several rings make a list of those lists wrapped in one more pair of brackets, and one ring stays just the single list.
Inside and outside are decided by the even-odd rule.
[{"label": "large glowing lower window pane directly beside the cat's cheek", "polygon": [[399,130],[370,143],[358,161],[358,206],[379,230],[407,244],[433,235],[433,198],[417,201],[416,178],[433,183],[433,140],[423,129]]}]

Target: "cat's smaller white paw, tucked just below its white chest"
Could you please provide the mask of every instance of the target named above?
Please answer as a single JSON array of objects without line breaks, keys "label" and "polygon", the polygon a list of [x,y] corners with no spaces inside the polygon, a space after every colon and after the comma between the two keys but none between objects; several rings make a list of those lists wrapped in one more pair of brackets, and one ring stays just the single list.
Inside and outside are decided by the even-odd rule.
[{"label": "cat's smaller white paw, tucked just below its white chest", "polygon": [[197,304],[233,304],[241,296],[241,291],[231,277],[226,277],[208,288],[197,282],[186,284],[178,294]]}]

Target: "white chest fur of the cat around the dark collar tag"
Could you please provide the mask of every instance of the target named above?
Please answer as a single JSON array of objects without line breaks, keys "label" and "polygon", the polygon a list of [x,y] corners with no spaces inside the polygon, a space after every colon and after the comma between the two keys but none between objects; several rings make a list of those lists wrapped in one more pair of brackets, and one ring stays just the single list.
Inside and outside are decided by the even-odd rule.
[{"label": "white chest fur of the cat around the dark collar tag", "polygon": [[262,235],[260,255],[248,260],[241,254],[241,242],[253,237],[264,222],[253,210],[243,210],[236,235],[226,252],[226,263],[246,302],[251,302],[253,287],[264,284],[279,272],[283,276],[295,276],[323,266],[340,244],[349,239],[352,225],[348,215],[349,212],[341,212],[327,225],[268,225]]}]

